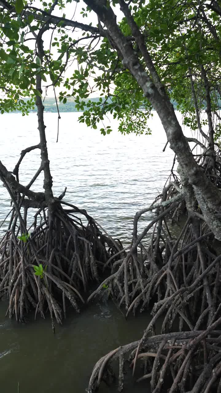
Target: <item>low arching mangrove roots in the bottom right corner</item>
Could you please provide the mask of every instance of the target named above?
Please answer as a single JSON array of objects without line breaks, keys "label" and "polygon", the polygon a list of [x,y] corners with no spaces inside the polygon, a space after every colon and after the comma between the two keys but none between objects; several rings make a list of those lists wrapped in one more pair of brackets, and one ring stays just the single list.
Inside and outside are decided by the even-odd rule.
[{"label": "low arching mangrove roots in the bottom right corner", "polygon": [[[118,347],[95,365],[87,392],[100,385],[107,367],[119,364],[118,391],[125,385],[125,373],[134,367],[136,382],[150,384],[151,392],[168,389],[168,393],[221,392],[221,331],[215,331],[221,320],[206,331],[175,332],[146,338],[135,356],[139,342]],[[135,357],[134,357],[135,356]],[[138,367],[139,363],[139,367]],[[127,367],[126,367],[127,366]],[[147,385],[147,389],[149,391]],[[164,390],[166,391],[166,390]]]}]

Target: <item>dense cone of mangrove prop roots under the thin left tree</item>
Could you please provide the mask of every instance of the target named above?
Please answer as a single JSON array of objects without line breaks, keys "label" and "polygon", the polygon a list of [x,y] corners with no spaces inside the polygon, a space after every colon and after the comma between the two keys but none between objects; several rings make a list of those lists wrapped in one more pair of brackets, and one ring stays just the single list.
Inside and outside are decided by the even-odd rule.
[{"label": "dense cone of mangrove prop roots under the thin left tree", "polygon": [[[47,209],[39,209],[19,239],[27,211],[24,209],[22,227],[13,209],[0,242],[0,298],[9,298],[7,313],[10,318],[15,314],[16,320],[23,320],[33,309],[35,317],[40,313],[43,318],[49,310],[58,323],[66,316],[68,305],[79,312],[88,284],[101,281],[105,263],[112,258],[111,268],[122,248],[120,241],[99,230],[85,210],[59,201],[50,220],[46,213]],[[34,266],[39,265],[41,276],[34,274]]]}]

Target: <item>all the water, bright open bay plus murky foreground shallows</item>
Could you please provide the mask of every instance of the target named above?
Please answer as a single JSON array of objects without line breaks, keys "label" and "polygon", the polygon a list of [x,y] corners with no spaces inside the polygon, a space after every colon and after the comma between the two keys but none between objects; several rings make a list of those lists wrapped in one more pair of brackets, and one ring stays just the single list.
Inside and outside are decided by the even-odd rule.
[{"label": "all the water, bright open bay plus murky foreground shallows", "polygon": [[[168,177],[173,152],[162,149],[166,136],[158,116],[149,121],[150,136],[122,136],[117,122],[105,137],[98,130],[77,122],[76,113],[62,113],[59,142],[56,143],[57,116],[46,114],[46,136],[53,175],[54,194],[67,187],[65,200],[87,209],[110,234],[123,244],[131,239],[133,216],[148,206],[162,191]],[[20,151],[39,143],[37,116],[1,116],[0,159],[12,171]],[[28,184],[39,167],[39,151],[29,153],[20,167],[20,182]],[[41,191],[42,176],[32,187]],[[0,222],[10,210],[7,191],[0,185]],[[154,216],[142,220],[145,226]],[[5,224],[3,229],[6,229]],[[141,228],[140,228],[141,230]],[[98,301],[82,314],[72,312],[63,326],[52,334],[50,319],[26,325],[5,317],[6,303],[0,304],[0,384],[4,393],[80,393],[87,387],[94,363],[108,351],[138,340],[150,320],[149,314],[125,321],[111,303]],[[127,382],[127,392],[134,391]],[[112,390],[112,389],[111,389]],[[102,391],[109,391],[102,386]],[[144,384],[136,391],[147,392]]]}]

